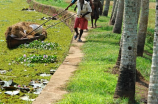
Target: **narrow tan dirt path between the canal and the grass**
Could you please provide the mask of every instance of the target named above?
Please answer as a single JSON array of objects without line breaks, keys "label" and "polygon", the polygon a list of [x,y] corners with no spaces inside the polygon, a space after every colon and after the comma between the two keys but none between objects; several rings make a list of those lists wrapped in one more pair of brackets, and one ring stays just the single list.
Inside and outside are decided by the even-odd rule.
[{"label": "narrow tan dirt path between the canal and the grass", "polygon": [[72,45],[64,62],[60,65],[47,86],[32,104],[52,104],[62,99],[62,96],[67,93],[64,90],[65,84],[73,75],[72,72],[77,70],[77,66],[83,58],[83,53],[80,48],[84,44],[87,35],[88,32],[84,31],[81,38],[83,42],[72,40]]}]

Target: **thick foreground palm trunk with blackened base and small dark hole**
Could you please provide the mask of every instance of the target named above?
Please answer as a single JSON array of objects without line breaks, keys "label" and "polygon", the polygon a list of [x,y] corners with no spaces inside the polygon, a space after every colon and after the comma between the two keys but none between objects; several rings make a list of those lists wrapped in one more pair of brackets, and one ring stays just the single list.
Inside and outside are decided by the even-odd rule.
[{"label": "thick foreground palm trunk with blackened base and small dark hole", "polygon": [[124,20],[120,74],[114,98],[129,98],[134,103],[137,51],[137,0],[124,1]]}]

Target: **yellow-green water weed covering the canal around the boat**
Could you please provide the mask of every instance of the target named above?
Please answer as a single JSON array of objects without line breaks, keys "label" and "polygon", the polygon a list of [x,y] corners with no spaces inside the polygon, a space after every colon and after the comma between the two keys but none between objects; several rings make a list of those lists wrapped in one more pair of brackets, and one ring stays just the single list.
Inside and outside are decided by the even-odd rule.
[{"label": "yellow-green water weed covering the canal around the boat", "polygon": [[[6,71],[5,74],[0,73],[0,80],[13,79],[13,82],[19,86],[28,86],[31,80],[49,80],[50,76],[43,77],[39,74],[49,74],[50,70],[56,70],[63,62],[72,39],[70,29],[64,23],[60,23],[47,30],[48,37],[43,42],[34,41],[29,45],[24,44],[14,49],[8,49],[5,31],[9,26],[23,21],[42,24],[46,20],[41,20],[41,18],[48,16],[36,11],[21,11],[23,8],[29,7],[26,0],[1,0],[0,7],[0,71]],[[44,28],[57,22],[59,21],[51,20],[45,24]],[[25,55],[26,60],[23,59]],[[30,99],[38,96],[23,92],[10,96],[5,94],[5,90],[0,89],[0,103],[30,104],[30,101],[20,99],[23,95],[29,95]]]}]

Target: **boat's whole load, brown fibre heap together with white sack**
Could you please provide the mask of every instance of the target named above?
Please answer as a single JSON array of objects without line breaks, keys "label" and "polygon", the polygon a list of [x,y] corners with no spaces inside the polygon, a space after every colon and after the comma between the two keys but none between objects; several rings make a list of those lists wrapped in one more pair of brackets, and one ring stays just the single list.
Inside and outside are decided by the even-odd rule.
[{"label": "boat's whole load, brown fibre heap together with white sack", "polygon": [[[16,38],[34,38],[36,35],[44,35],[47,37],[47,31],[37,23],[19,22],[7,28],[5,37],[8,35]],[[39,27],[38,29],[36,29]],[[33,31],[36,29],[35,31]],[[32,32],[33,31],[33,32]],[[31,32],[31,33],[30,33]]]}]

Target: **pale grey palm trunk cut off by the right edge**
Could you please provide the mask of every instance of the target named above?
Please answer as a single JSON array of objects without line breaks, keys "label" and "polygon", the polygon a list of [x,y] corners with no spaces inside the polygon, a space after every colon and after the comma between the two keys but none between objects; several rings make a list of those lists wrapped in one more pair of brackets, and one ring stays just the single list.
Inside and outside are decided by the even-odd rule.
[{"label": "pale grey palm trunk cut off by the right edge", "polygon": [[148,104],[158,104],[158,0],[156,0],[156,23],[153,56],[148,90]]}]

